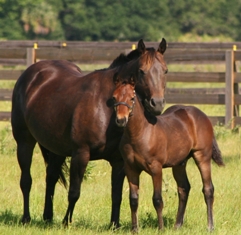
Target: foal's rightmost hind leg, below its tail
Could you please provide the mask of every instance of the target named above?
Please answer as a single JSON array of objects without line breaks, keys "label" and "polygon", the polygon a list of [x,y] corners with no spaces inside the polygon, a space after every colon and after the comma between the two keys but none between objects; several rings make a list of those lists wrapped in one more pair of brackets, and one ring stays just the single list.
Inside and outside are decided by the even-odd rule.
[{"label": "foal's rightmost hind leg, below its tail", "polygon": [[[203,151],[204,152],[204,151]],[[214,202],[214,186],[211,177],[211,151],[209,154],[201,152],[194,153],[194,159],[201,173],[205,203],[207,205],[207,217],[208,217],[208,230],[214,229],[213,223],[213,202]],[[210,156],[210,157],[207,157]]]}]

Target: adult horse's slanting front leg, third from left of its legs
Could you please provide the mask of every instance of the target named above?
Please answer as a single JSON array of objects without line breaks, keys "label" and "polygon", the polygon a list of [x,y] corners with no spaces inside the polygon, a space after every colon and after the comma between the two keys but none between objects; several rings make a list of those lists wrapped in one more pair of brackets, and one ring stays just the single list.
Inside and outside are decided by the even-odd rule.
[{"label": "adult horse's slanting front leg, third from left of its legs", "polygon": [[84,177],[85,169],[89,162],[89,151],[78,151],[72,156],[70,163],[70,185],[68,201],[69,205],[63,219],[63,224],[68,225],[68,222],[72,223],[72,215],[75,207],[75,203],[80,196],[80,186]]}]

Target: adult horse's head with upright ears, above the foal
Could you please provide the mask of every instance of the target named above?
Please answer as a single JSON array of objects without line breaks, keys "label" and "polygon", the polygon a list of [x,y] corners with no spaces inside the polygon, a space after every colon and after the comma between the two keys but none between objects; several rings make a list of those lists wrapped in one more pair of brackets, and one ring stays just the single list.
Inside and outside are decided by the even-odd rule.
[{"label": "adult horse's head with upright ears, above the foal", "polygon": [[140,56],[122,66],[120,77],[133,74],[137,84],[135,90],[145,109],[154,115],[160,115],[165,106],[165,86],[167,65],[163,54],[166,50],[166,40],[163,38],[157,50],[146,48],[142,40],[138,42],[137,51]]}]

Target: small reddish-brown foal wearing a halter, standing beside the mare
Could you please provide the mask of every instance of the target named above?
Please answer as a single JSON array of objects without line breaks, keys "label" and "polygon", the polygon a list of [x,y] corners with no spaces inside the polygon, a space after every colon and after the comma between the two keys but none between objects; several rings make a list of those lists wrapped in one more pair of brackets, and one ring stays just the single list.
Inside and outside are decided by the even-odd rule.
[{"label": "small reddish-brown foal wearing a halter, standing beside the mare", "polygon": [[113,93],[116,123],[124,127],[120,151],[130,187],[132,229],[138,229],[137,208],[139,176],[144,170],[151,175],[154,187],[153,205],[159,229],[162,218],[162,168],[172,167],[179,196],[175,227],[181,227],[190,191],[186,164],[193,158],[202,177],[207,205],[208,229],[213,229],[214,187],[211,179],[211,159],[224,165],[208,117],[194,106],[174,105],[161,116],[154,117],[145,110],[135,95],[134,78],[121,83],[115,76],[117,88]]}]

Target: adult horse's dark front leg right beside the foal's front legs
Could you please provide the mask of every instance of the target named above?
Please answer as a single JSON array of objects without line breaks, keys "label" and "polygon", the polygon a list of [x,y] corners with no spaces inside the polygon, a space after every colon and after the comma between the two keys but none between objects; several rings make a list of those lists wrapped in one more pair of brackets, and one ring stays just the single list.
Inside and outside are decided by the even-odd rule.
[{"label": "adult horse's dark front leg right beside the foal's front legs", "polygon": [[122,201],[122,189],[125,178],[124,162],[123,160],[118,162],[110,162],[111,171],[111,225],[115,228],[120,227],[120,206]]}]

